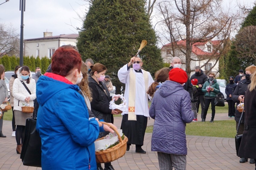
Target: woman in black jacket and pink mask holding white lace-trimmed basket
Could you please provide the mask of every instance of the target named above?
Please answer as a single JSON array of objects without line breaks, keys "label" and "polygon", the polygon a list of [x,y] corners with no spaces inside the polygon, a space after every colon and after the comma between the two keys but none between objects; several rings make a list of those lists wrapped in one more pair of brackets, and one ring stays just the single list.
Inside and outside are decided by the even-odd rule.
[{"label": "woman in black jacket and pink mask holding white lace-trimmed basket", "polygon": [[[89,87],[92,90],[93,100],[91,101],[91,110],[99,120],[103,119],[105,122],[114,123],[113,115],[118,115],[118,112],[109,109],[109,102],[111,100],[108,88],[102,82],[105,78],[107,68],[100,63],[91,66],[91,75],[89,76]],[[116,100],[116,99],[115,99]],[[106,136],[109,132],[102,132],[99,138]],[[100,163],[97,163],[97,170],[103,170]],[[104,170],[114,170],[111,162],[105,163]]]}]

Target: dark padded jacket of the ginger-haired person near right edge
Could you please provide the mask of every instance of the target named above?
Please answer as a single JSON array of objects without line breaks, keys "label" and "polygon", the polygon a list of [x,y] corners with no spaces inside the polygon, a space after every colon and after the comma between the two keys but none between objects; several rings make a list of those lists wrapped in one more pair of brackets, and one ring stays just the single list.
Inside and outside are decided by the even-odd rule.
[{"label": "dark padded jacket of the ginger-haired person near right edge", "polygon": [[[250,83],[251,83],[250,81],[247,81],[246,79],[244,79],[244,80],[240,81],[238,83],[238,85],[236,86],[236,89],[235,89],[235,91],[233,92],[233,95],[232,95],[232,100],[234,102],[236,102],[236,106],[239,105],[239,103],[240,103],[240,101],[238,100],[238,97],[240,95],[245,95],[245,91],[247,90],[248,85]],[[239,122],[240,117],[241,117],[241,113],[238,112],[238,110],[236,109],[235,120],[237,122]],[[244,123],[243,119],[241,120],[241,123]]]}]

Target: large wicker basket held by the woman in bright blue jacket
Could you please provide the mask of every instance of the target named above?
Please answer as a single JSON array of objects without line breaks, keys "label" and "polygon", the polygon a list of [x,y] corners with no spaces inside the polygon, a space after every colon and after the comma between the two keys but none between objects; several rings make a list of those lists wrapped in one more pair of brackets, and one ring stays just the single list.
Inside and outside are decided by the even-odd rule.
[{"label": "large wicker basket held by the woman in bright blue jacket", "polygon": [[[118,139],[119,139],[119,144],[113,146],[112,148],[108,148],[108,149],[103,150],[103,151],[95,152],[96,162],[97,163],[112,162],[112,161],[117,160],[118,158],[122,157],[125,154],[125,152],[126,152],[126,143],[128,141],[128,138],[126,136],[124,136],[124,139],[122,140],[121,136],[119,135],[117,130],[112,125],[110,125],[106,122],[100,122],[100,123],[110,126],[111,129],[113,129],[115,131],[115,133],[117,134]],[[100,139],[97,139],[97,140],[101,140],[103,138],[100,138]]]}]

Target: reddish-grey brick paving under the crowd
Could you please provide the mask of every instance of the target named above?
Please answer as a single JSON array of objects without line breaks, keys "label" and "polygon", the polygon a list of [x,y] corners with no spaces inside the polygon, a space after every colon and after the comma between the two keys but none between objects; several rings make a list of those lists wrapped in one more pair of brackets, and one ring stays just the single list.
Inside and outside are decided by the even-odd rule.
[{"label": "reddish-grey brick paving under the crowd", "polygon": [[[200,115],[198,115],[200,118]],[[208,116],[210,119],[210,115]],[[114,124],[120,128],[122,117],[115,117]],[[227,114],[216,114],[215,120],[227,120]],[[196,123],[196,122],[193,122]],[[154,124],[154,120],[148,120],[148,125]],[[36,170],[37,167],[23,166],[20,155],[16,153],[16,140],[11,137],[11,121],[4,121],[3,133],[6,138],[0,138],[0,170]],[[131,145],[130,151],[112,162],[116,170],[155,170],[159,169],[157,153],[151,151],[151,133],[145,134],[144,146],[147,154],[135,152],[135,145]],[[218,138],[206,136],[187,136],[187,170],[204,169],[242,169],[254,170],[254,164],[239,163],[236,156],[235,141],[233,138]],[[104,165],[103,165],[104,166]]]}]

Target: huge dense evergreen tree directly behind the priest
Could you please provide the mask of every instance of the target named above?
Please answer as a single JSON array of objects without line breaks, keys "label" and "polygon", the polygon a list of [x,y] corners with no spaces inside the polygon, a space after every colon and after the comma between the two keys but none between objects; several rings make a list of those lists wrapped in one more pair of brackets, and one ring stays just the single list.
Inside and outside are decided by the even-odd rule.
[{"label": "huge dense evergreen tree directly behind the priest", "polygon": [[148,41],[140,53],[144,69],[154,75],[163,67],[144,7],[144,0],[94,0],[79,33],[77,47],[82,59],[92,58],[107,67],[116,94],[123,85],[117,72],[136,54],[142,40]]}]

